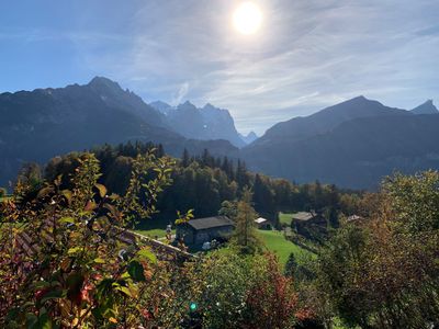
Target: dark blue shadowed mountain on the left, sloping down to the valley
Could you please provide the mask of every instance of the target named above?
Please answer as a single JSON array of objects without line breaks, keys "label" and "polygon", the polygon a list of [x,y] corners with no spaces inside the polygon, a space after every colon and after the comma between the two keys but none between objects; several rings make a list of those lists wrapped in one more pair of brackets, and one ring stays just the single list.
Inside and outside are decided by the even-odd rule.
[{"label": "dark blue shadowed mountain on the left, sloping down to the valley", "polygon": [[[127,140],[161,143],[180,156],[183,148],[236,152],[228,141],[198,141],[166,128],[164,115],[117,83],[94,78],[85,86],[0,94],[0,185],[23,162],[45,162],[72,150]],[[216,150],[217,149],[217,150]]]}]

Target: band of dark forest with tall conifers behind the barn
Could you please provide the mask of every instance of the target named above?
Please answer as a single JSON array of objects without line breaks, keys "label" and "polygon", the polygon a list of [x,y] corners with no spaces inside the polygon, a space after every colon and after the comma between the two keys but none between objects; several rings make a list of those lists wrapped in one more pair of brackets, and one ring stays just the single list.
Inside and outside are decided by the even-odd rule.
[{"label": "band of dark forest with tall conifers behind the barn", "polygon": [[[134,159],[154,149],[157,157],[164,157],[161,145],[127,143],[117,146],[104,145],[90,151],[100,161],[102,175],[99,182],[110,192],[123,194],[130,184]],[[54,181],[63,175],[63,184],[68,186],[69,177],[78,166],[81,152],[70,152],[53,158],[45,167],[35,163],[24,166],[20,177],[33,177],[35,184],[46,179]],[[260,216],[267,217],[275,226],[278,212],[315,211],[326,214],[330,226],[338,225],[339,214],[347,216],[357,209],[354,201],[361,192],[342,191],[335,185],[295,184],[284,179],[272,179],[247,170],[244,161],[227,157],[211,156],[207,150],[192,156],[187,150],[177,160],[171,174],[172,184],[167,186],[157,200],[160,213],[146,227],[165,227],[172,224],[177,211],[194,209],[195,217],[217,215],[222,203],[240,198],[245,188],[252,192],[252,204]],[[352,205],[353,198],[353,205]],[[353,208],[352,208],[353,207]]]}]

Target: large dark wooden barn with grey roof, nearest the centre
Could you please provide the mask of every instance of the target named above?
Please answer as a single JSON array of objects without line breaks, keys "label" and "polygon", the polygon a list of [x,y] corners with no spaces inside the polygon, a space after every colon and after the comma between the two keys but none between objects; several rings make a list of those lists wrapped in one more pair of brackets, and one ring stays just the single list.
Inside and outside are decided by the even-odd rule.
[{"label": "large dark wooden barn with grey roof, nearest the centre", "polygon": [[212,240],[226,240],[235,228],[226,216],[191,219],[177,226],[176,239],[185,245],[202,245]]}]

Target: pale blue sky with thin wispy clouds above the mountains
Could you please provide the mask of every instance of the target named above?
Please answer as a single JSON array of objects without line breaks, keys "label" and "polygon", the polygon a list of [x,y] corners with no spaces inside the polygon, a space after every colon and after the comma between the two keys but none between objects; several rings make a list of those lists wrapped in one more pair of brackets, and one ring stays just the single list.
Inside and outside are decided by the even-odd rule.
[{"label": "pale blue sky with thin wispy clouds above the mountains", "polygon": [[[0,92],[105,76],[150,102],[228,109],[241,132],[363,94],[414,107],[439,98],[438,0],[3,0]],[[439,102],[439,101],[438,101]]]}]

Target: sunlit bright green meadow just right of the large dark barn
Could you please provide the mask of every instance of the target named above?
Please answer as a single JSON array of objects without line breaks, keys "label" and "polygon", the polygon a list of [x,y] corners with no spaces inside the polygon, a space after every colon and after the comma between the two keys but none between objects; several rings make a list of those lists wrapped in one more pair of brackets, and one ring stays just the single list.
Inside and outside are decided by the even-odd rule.
[{"label": "sunlit bright green meadow just right of the large dark barn", "polygon": [[309,251],[304,250],[293,242],[286,240],[281,231],[258,229],[258,232],[267,249],[278,256],[279,262],[282,265],[285,265],[290,253],[294,253],[296,258],[301,258],[304,254],[309,254]]}]

